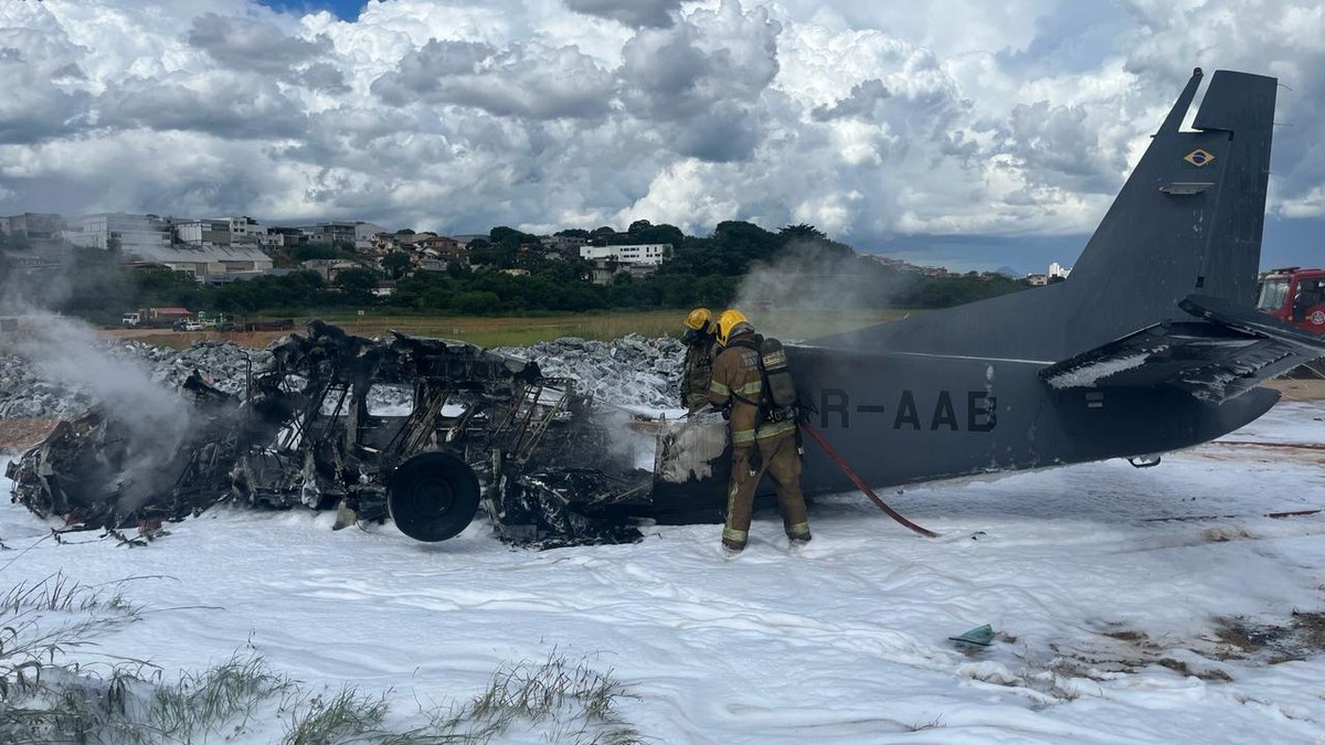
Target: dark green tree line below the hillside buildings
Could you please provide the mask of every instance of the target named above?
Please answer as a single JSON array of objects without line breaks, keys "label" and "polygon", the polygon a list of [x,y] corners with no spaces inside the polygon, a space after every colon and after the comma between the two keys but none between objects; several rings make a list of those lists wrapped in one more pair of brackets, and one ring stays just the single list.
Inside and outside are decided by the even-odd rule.
[{"label": "dark green tree line below the hillside buildings", "polygon": [[[619,273],[611,284],[590,281],[591,262],[576,257],[549,257],[538,237],[497,227],[488,240],[469,245],[470,266],[450,264],[445,272],[409,273],[405,256],[387,260],[383,268],[355,268],[325,281],[311,270],[261,276],[225,284],[200,284],[170,270],[131,270],[118,264],[113,252],[72,249],[56,277],[29,278],[52,285],[48,301],[58,310],[101,322],[114,322],[129,309],[184,306],[224,314],[311,314],[333,309],[384,309],[400,313],[498,315],[523,313],[578,313],[611,309],[684,309],[700,305],[722,308],[737,298],[742,280],[755,272],[776,272],[790,281],[791,297],[775,298],[796,305],[814,298],[795,297],[798,277],[825,278],[836,294],[837,284],[859,296],[857,305],[872,308],[943,308],[1023,289],[1019,280],[977,276],[928,277],[900,272],[851,247],[828,239],[812,225],[787,225],[766,231],[753,223],[719,223],[706,237],[686,236],[674,225],[631,224],[625,233],[611,228],[567,229],[559,236],[591,239],[599,244],[670,244],[666,261],[643,277]],[[297,268],[307,258],[351,258],[346,247],[301,245],[274,252],[276,264]],[[504,269],[523,272],[507,273]],[[527,272],[527,274],[525,274]],[[0,262],[0,274],[21,274]],[[391,296],[375,290],[394,278]],[[808,280],[807,280],[808,281]],[[8,286],[8,281],[5,282]],[[49,305],[48,305],[49,306]]]}]

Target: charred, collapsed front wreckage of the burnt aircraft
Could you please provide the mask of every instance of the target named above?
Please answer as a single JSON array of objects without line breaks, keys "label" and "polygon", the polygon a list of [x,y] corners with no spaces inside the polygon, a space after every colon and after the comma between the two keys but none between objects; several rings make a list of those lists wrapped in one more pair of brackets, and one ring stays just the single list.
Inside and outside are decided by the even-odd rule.
[{"label": "charred, collapsed front wreckage of the burnt aircraft", "polygon": [[[721,419],[651,423],[651,471],[621,447],[624,412],[531,361],[319,321],[269,350],[242,395],[184,382],[192,420],[170,453],[140,452],[105,406],[61,422],[9,464],[13,500],[66,530],[152,530],[232,502],[337,509],[337,528],[391,518],[419,541],[481,506],[504,541],[545,547],[639,540],[639,518],[718,520]],[[408,403],[374,411],[383,391]]]}]

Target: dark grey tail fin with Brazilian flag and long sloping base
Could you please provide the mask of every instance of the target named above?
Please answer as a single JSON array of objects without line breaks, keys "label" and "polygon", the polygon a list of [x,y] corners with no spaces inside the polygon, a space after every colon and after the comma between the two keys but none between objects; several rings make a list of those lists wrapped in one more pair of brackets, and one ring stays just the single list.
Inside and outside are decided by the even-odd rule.
[{"label": "dark grey tail fin with Brazilian flag and long sloping base", "polygon": [[828,347],[1052,363],[1169,321],[1179,302],[1251,308],[1269,183],[1275,78],[1198,69],[1064,282],[816,339]]}]

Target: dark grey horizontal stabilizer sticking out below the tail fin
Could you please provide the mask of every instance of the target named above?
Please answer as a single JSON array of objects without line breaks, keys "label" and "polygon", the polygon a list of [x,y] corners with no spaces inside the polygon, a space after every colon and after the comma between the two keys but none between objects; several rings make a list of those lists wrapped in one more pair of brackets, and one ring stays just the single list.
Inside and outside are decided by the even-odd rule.
[{"label": "dark grey horizontal stabilizer sticking out below the tail fin", "polygon": [[1222,403],[1325,355],[1325,338],[1231,302],[1189,296],[1203,321],[1165,321],[1040,370],[1055,388],[1169,386]]}]

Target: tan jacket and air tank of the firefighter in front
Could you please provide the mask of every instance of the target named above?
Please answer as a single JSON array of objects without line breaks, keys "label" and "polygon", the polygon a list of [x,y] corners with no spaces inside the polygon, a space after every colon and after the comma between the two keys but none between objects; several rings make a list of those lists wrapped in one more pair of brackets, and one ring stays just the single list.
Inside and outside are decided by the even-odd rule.
[{"label": "tan jacket and air tank of the firefighter in front", "polygon": [[713,361],[709,380],[709,403],[717,408],[731,407],[731,447],[750,447],[757,439],[787,435],[795,420],[768,422],[763,391],[763,372],[754,334],[739,334]]}]

